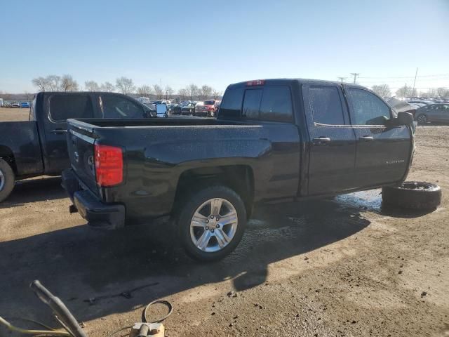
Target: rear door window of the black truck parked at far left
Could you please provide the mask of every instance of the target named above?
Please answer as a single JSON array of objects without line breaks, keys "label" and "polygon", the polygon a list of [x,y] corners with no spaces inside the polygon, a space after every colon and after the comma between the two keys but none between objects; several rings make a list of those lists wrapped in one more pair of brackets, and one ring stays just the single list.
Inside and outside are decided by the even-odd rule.
[{"label": "rear door window of the black truck parked at far left", "polygon": [[93,117],[92,101],[87,95],[54,95],[48,108],[53,121]]}]

